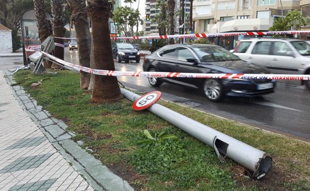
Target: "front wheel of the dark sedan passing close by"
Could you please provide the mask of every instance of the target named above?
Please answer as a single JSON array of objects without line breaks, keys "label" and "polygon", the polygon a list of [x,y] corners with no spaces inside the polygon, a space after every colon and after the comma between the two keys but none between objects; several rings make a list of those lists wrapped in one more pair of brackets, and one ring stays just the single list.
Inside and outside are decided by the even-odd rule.
[{"label": "front wheel of the dark sedan passing close by", "polygon": [[210,101],[218,102],[223,98],[223,86],[218,79],[205,80],[203,91]]}]

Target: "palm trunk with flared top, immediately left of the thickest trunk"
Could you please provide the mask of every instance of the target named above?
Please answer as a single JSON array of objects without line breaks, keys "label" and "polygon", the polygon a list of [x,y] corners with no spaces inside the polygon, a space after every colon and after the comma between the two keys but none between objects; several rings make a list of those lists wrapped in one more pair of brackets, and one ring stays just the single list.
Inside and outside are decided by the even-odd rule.
[{"label": "palm trunk with flared top, immediately left of the thickest trunk", "polygon": [[[71,26],[74,25],[78,42],[78,60],[84,67],[90,67],[91,38],[87,22],[87,8],[85,0],[67,0],[71,10]],[[90,82],[88,72],[80,72],[80,88],[87,89]]]}]

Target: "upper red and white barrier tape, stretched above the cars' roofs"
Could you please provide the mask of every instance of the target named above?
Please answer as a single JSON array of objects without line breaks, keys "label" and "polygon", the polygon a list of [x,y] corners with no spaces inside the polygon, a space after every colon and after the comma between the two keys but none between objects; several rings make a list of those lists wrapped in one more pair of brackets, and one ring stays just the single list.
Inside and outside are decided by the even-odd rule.
[{"label": "upper red and white barrier tape, stretched above the cars' roofs", "polygon": [[[223,36],[254,36],[254,35],[295,35],[295,34],[310,34],[310,30],[305,31],[268,31],[268,32],[227,32],[227,33],[198,33],[198,34],[178,34],[178,35],[158,35],[158,36],[133,36],[133,37],[111,37],[112,40],[139,40],[139,39],[170,39],[170,38],[208,38],[208,37],[223,37]],[[54,37],[61,38],[61,37]],[[61,38],[75,39],[75,38]]]}]

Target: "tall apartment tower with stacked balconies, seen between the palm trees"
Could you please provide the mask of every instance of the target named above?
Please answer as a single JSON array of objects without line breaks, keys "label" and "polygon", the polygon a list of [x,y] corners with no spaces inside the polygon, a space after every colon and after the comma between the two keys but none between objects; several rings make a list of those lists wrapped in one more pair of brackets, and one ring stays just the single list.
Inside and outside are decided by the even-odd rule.
[{"label": "tall apartment tower with stacked balconies, seen between the palm trees", "polygon": [[[150,20],[144,20],[145,23],[145,30],[144,33],[146,35],[155,35],[155,33],[158,33],[158,23],[157,22],[152,22],[152,20],[155,18],[155,15],[160,13],[160,9],[156,8],[156,2],[157,0],[146,0],[145,6],[146,6],[146,15],[150,14]],[[175,8],[174,8],[174,12],[177,12],[178,10],[182,9],[182,2],[183,0],[175,0]],[[185,9],[185,13],[186,15],[189,15],[190,12],[190,0],[184,0],[184,9]],[[168,11],[167,11],[168,12]],[[179,32],[179,16],[175,15],[174,16],[174,20],[175,20],[175,29],[174,31],[176,33]],[[181,22],[182,24],[183,22]],[[188,27],[189,24],[187,23],[186,27]]]}]

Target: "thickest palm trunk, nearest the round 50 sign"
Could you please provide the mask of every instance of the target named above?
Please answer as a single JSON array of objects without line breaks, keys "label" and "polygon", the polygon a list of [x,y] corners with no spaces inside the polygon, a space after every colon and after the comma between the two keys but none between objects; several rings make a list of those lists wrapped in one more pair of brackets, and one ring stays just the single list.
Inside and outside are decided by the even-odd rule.
[{"label": "thickest palm trunk, nearest the round 50 sign", "polygon": [[[109,17],[112,16],[109,0],[87,0],[91,20],[95,69],[115,70],[109,32]],[[122,98],[117,78],[95,75],[91,102],[113,102]]]}]

